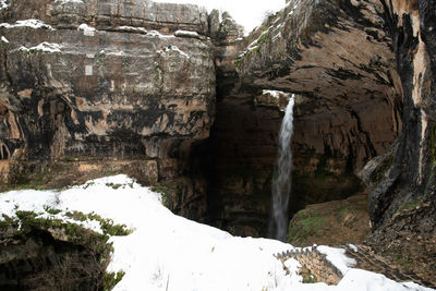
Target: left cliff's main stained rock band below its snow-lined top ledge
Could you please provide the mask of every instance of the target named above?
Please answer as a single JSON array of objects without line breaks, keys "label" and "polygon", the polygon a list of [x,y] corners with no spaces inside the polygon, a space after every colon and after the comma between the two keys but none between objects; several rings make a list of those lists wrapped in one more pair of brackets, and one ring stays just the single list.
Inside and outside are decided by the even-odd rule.
[{"label": "left cliff's main stained rock band below its snow-lined top ledge", "polygon": [[[88,11],[60,3],[46,10]],[[85,20],[64,10],[47,24],[35,22],[38,28],[2,26],[9,39],[2,43],[1,74],[5,156],[59,159],[113,151],[153,158],[167,154],[156,149],[159,136],[208,136],[215,98],[208,40],[122,26],[99,31],[90,27],[96,20],[78,25]],[[73,20],[77,25],[65,28]]]}]

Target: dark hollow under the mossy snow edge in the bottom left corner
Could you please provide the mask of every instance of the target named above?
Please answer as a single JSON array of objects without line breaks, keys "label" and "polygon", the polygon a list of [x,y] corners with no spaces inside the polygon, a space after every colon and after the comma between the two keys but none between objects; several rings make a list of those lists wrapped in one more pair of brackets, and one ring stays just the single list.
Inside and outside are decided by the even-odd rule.
[{"label": "dark hollow under the mossy snow edge in the bottom left corner", "polygon": [[1,290],[104,290],[107,254],[56,240],[41,229],[1,237]]}]

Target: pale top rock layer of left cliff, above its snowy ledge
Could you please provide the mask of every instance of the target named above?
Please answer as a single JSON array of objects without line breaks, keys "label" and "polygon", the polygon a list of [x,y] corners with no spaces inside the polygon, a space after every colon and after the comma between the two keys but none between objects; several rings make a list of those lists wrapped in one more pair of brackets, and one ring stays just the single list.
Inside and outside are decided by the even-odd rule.
[{"label": "pale top rock layer of left cliff, above its snowy ledge", "polygon": [[193,32],[209,34],[205,10],[191,4],[155,3],[149,0],[11,1],[1,13],[4,20],[37,19],[56,24],[58,28],[75,28],[83,23],[93,23],[101,31],[138,33],[158,29],[165,33],[182,31],[178,34],[190,36],[195,36]]}]

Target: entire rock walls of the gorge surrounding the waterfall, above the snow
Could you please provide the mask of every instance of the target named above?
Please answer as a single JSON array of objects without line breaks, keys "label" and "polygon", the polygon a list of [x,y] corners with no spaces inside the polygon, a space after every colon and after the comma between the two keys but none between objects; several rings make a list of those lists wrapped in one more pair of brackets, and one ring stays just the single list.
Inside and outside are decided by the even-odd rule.
[{"label": "entire rock walls of the gorge surrounding the waterfall, above the snow", "polygon": [[266,237],[295,94],[289,218],[366,193],[368,244],[434,269],[435,4],[287,2],[243,37],[195,5],[12,1],[0,10],[0,190],[124,172],[175,214]]}]

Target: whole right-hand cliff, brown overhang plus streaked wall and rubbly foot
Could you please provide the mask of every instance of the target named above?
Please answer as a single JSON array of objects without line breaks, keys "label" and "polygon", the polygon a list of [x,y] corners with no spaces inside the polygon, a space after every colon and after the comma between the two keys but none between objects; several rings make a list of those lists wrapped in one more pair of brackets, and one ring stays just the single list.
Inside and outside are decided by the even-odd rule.
[{"label": "whole right-hand cliff, brown overhang plus streaked wall and rubbly foot", "polygon": [[417,271],[435,267],[435,20],[431,1],[288,1],[235,60],[243,83],[304,95],[314,150],[349,157],[354,171],[399,134],[361,172],[370,242]]}]

